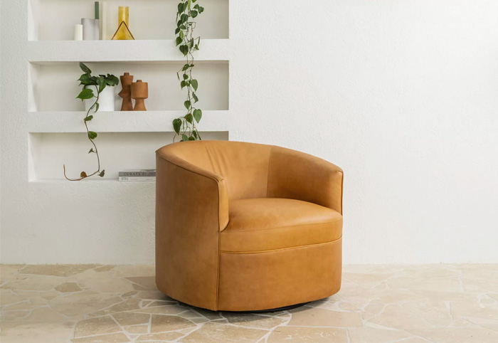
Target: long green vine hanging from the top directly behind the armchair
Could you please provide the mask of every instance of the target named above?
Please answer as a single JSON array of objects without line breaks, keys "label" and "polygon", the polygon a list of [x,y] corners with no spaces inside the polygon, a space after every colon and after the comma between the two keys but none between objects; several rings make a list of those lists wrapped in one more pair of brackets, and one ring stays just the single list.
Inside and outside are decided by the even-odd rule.
[{"label": "long green vine hanging from the top directly behind the armchair", "polygon": [[[173,128],[176,136],[181,137],[181,142],[188,140],[201,139],[196,122],[200,122],[202,118],[202,110],[198,109],[195,104],[198,102],[196,91],[198,82],[192,78],[192,69],[194,68],[194,51],[199,50],[201,37],[194,37],[194,29],[196,22],[193,20],[204,11],[202,6],[196,3],[197,0],[181,0],[178,4],[178,12],[176,13],[176,46],[179,46],[181,53],[186,56],[186,64],[176,74],[180,80],[181,89],[186,88],[187,99],[184,102],[186,115],[173,120]],[[181,77],[180,77],[181,75]]]}]

